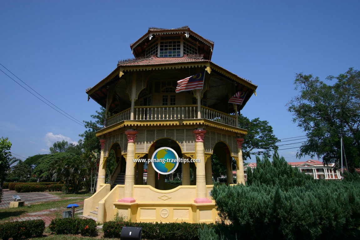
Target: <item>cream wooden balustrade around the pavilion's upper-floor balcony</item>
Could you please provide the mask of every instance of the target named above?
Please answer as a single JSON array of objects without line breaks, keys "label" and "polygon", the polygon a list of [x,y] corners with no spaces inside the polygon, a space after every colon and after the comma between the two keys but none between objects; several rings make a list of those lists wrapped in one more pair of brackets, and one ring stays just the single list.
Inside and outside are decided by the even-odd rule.
[{"label": "cream wooden balustrade around the pavilion's upper-floor balcony", "polygon": [[[106,121],[106,127],[130,120],[131,109],[126,109]],[[201,106],[201,117],[235,126],[235,116]],[[177,120],[197,118],[197,105],[187,106],[138,106],[134,108],[134,120]]]}]

